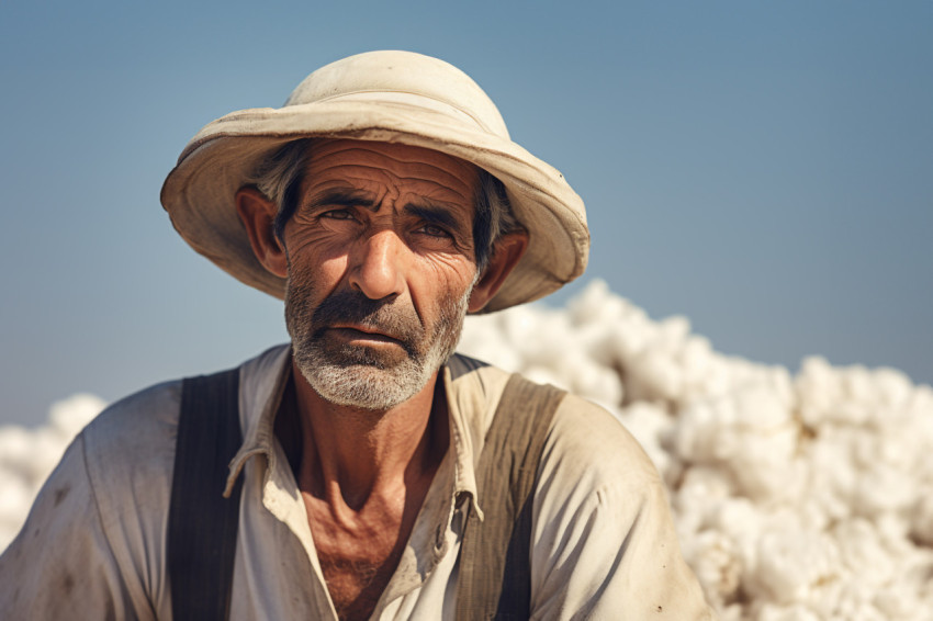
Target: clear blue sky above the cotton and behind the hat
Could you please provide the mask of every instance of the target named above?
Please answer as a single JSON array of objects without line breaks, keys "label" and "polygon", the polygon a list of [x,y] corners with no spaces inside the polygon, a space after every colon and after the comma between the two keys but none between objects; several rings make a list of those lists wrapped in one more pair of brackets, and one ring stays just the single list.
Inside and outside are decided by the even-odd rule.
[{"label": "clear blue sky above the cotton and behind the hat", "polygon": [[465,70],[564,172],[583,283],[727,353],[931,383],[931,33],[925,1],[0,2],[0,422],[284,340],[161,182],[205,123],[384,48]]}]

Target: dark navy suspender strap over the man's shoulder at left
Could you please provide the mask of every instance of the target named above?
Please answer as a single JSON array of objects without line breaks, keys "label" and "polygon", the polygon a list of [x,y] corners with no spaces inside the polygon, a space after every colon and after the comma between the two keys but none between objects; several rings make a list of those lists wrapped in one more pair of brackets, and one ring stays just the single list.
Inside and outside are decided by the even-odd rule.
[{"label": "dark navy suspender strap over the man's shoulder at left", "polygon": [[223,492],[243,443],[238,387],[238,369],[182,382],[168,522],[175,621],[229,617],[243,479]]}]

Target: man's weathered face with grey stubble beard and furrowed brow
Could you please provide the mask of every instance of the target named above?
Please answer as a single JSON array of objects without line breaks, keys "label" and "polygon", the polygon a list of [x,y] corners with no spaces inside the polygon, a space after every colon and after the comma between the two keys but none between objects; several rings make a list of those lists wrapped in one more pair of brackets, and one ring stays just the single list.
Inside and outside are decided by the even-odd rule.
[{"label": "man's weathered face with grey stubble beard and furrowed brow", "polygon": [[285,321],[324,398],[386,409],[453,352],[476,280],[476,170],[437,151],[356,140],[312,147],[294,216]]}]

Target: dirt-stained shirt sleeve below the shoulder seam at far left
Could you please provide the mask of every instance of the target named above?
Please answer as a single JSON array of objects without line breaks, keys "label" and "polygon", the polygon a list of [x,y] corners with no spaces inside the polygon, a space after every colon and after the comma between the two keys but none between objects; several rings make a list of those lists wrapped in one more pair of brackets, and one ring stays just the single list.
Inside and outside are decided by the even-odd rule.
[{"label": "dirt-stained shirt sleeve below the shoulder seam at far left", "polygon": [[135,619],[127,602],[78,436],[0,556],[0,610],[7,619]]}]

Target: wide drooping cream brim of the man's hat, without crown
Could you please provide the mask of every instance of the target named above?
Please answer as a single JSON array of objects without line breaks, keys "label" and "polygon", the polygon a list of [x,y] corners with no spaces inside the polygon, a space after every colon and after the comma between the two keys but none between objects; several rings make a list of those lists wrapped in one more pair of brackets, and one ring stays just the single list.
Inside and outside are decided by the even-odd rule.
[{"label": "wide drooping cream brim of the man's hat, without crown", "polygon": [[282,298],[285,282],[252,253],[235,194],[262,157],[288,142],[311,137],[425,147],[472,162],[502,181],[515,216],[528,229],[529,244],[484,310],[538,300],[586,268],[589,232],[583,201],[558,170],[469,118],[373,98],[250,109],[206,125],[162,185],[161,202],[172,225],[221,269]]}]

